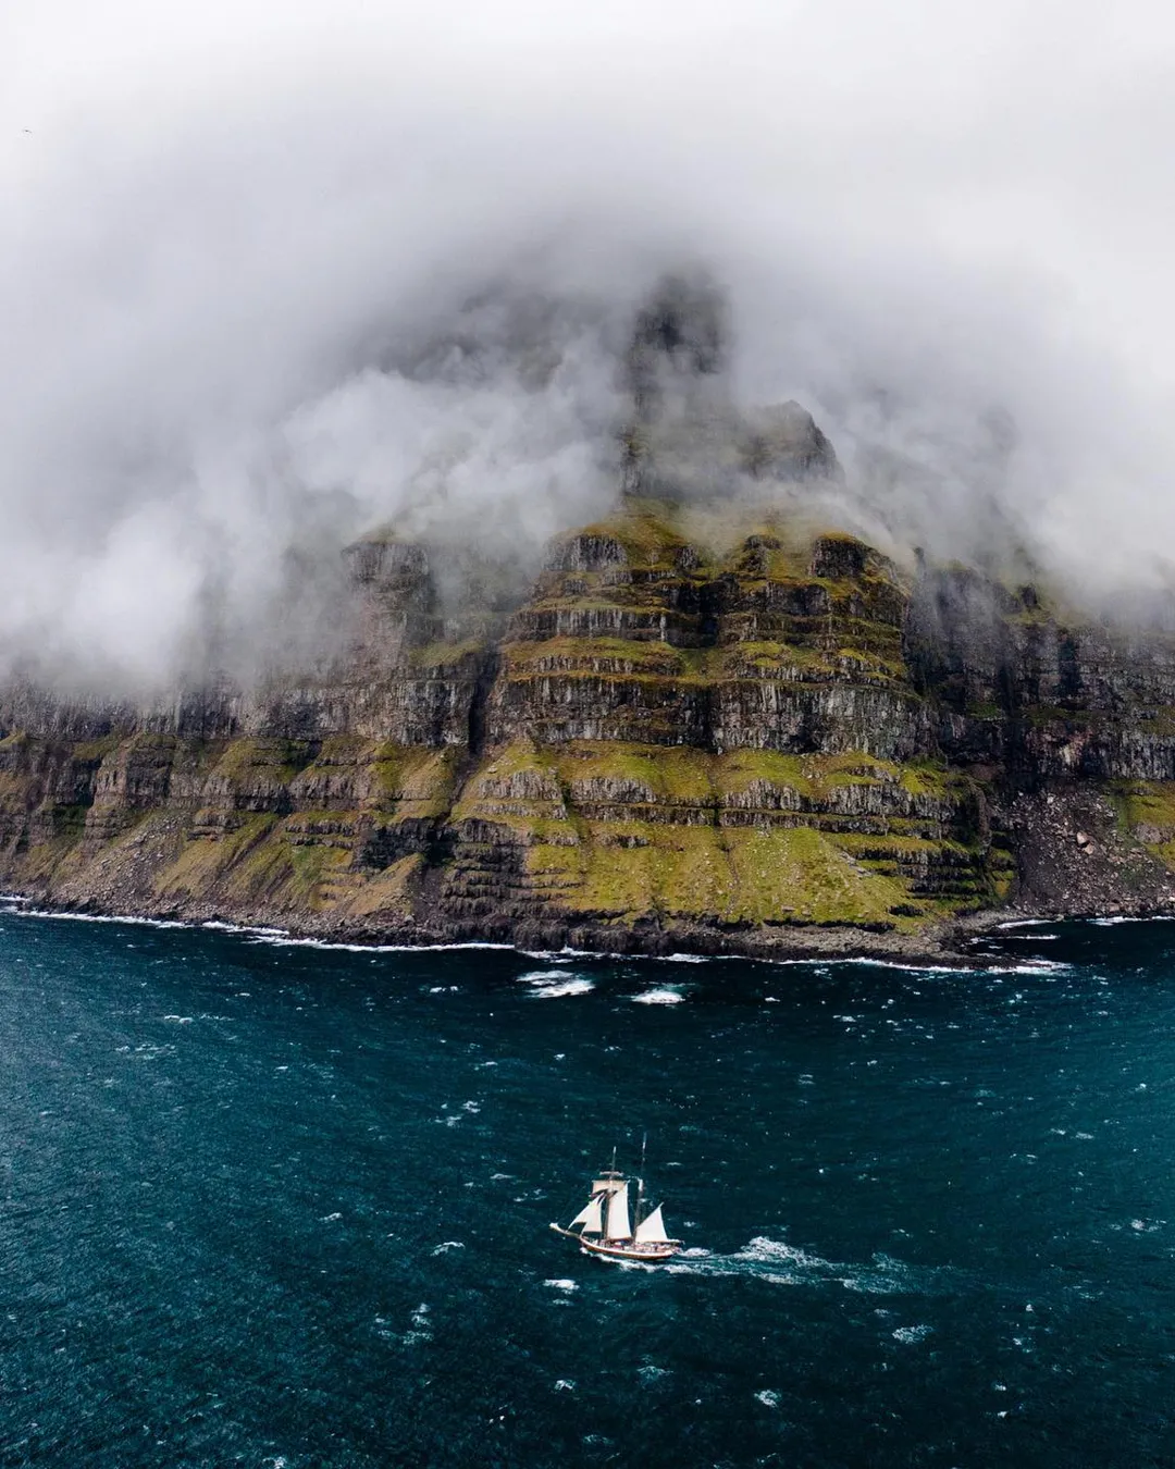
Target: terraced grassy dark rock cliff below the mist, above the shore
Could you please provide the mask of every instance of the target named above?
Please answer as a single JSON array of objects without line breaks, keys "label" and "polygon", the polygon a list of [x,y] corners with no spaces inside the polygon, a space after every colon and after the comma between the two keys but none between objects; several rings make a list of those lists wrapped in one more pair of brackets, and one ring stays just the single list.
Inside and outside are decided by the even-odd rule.
[{"label": "terraced grassy dark rock cliff below the mist, above the shore", "polygon": [[1009,896],[1175,900],[1175,643],[902,574],[752,507],[627,497],[492,569],[350,552],[317,680],[0,702],[0,881],[404,940],[925,952]]}]

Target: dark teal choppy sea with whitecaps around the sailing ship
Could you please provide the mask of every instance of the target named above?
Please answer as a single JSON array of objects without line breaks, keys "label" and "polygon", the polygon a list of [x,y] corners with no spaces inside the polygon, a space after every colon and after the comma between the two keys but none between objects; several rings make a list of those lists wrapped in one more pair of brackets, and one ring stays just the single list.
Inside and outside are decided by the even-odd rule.
[{"label": "dark teal choppy sea with whitecaps around the sailing ship", "polygon": [[[0,1465],[1175,1462],[1175,924],[988,949],[0,912]],[[645,1131],[687,1249],[585,1257]]]}]

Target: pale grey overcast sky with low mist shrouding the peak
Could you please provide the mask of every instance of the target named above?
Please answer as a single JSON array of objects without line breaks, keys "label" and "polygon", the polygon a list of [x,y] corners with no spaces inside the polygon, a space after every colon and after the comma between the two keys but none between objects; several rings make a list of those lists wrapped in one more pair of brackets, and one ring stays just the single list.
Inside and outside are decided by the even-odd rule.
[{"label": "pale grey overcast sky with low mist shrouding the peak", "polygon": [[[1075,580],[1160,577],[1172,138],[1140,0],[6,6],[0,633],[154,677],[438,485],[549,533],[605,491],[614,322],[689,256],[749,400],[862,485],[911,463],[892,527],[978,541],[994,497]],[[501,313],[477,380],[397,366],[479,273],[576,303],[539,397]]]}]

